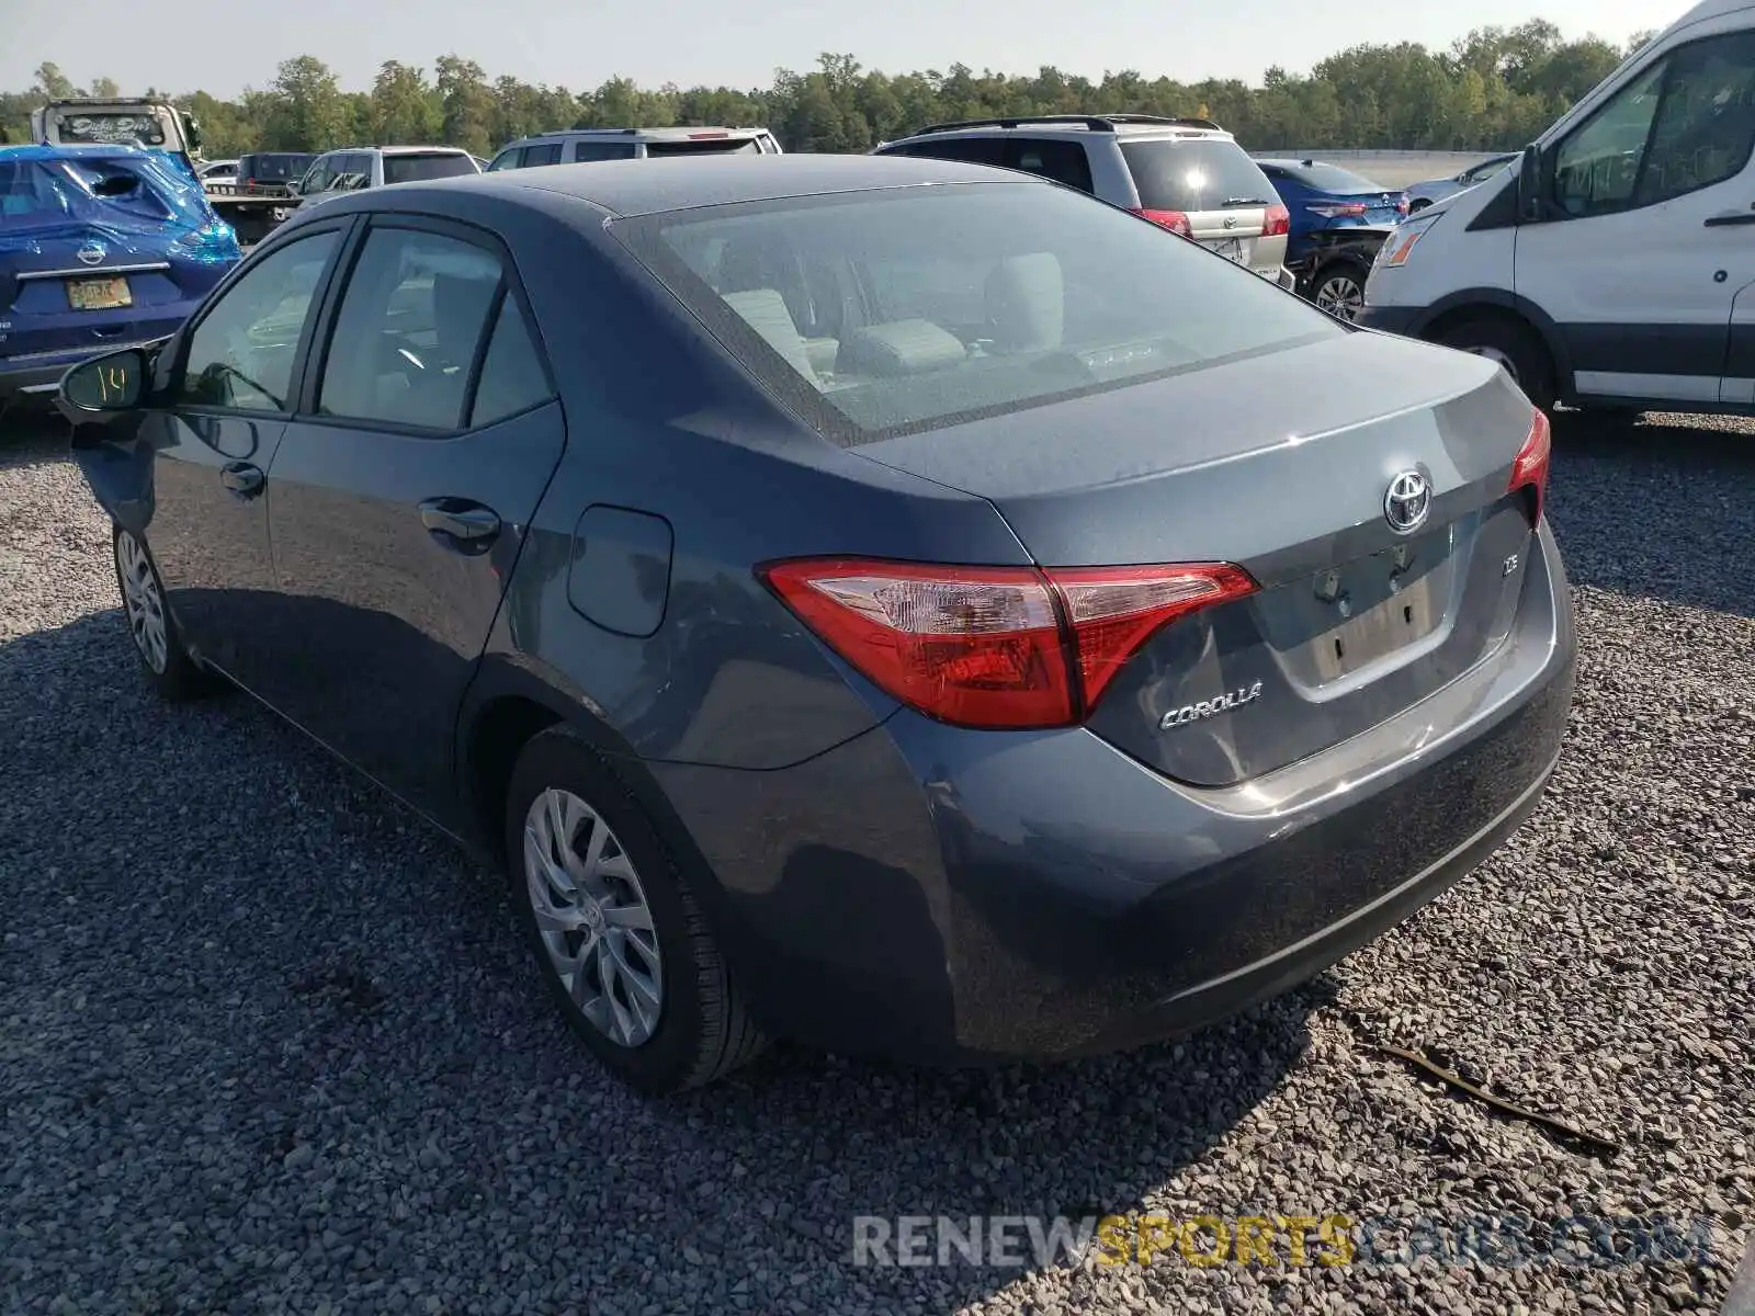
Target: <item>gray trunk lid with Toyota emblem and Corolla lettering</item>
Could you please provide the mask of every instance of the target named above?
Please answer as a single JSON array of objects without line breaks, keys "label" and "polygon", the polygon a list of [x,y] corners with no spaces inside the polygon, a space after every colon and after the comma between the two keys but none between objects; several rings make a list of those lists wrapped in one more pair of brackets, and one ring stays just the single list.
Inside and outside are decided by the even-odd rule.
[{"label": "gray trunk lid with Toyota emblem and Corolla lettering", "polygon": [[[1228,786],[1504,642],[1530,551],[1508,484],[1532,414],[1479,358],[1355,333],[856,451],[990,498],[1044,567],[1246,569],[1257,593],[1153,635],[1086,723],[1171,777]],[[1392,526],[1392,486],[1420,481],[1425,519]]]}]

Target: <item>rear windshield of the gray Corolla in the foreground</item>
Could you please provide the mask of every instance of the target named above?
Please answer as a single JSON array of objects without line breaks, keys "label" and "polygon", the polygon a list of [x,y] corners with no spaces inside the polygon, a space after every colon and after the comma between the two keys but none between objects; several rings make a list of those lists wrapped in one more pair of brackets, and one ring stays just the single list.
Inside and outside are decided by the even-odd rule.
[{"label": "rear windshield of the gray Corolla in the foreground", "polygon": [[1153,223],[1041,182],[716,205],[612,232],[842,444],[1346,333]]}]

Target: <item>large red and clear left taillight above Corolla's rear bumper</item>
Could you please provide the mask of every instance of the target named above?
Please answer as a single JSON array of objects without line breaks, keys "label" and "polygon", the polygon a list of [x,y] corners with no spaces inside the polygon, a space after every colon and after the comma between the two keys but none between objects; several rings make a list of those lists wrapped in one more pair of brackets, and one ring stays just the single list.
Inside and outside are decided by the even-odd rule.
[{"label": "large red and clear left taillight above Corolla's rear bumper", "polygon": [[1083,721],[1151,635],[1257,588],[1230,563],[1039,570],[802,558],[756,576],[886,695],[986,730]]}]

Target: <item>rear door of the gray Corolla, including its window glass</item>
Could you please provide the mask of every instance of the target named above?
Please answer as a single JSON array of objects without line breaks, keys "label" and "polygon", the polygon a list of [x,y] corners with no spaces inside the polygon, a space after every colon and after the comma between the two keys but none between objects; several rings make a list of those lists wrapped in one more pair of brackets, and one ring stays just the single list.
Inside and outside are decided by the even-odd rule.
[{"label": "rear door of the gray Corolla, including its window glass", "polygon": [[565,426],[504,246],[376,216],[269,472],[274,705],[412,804],[451,733]]}]

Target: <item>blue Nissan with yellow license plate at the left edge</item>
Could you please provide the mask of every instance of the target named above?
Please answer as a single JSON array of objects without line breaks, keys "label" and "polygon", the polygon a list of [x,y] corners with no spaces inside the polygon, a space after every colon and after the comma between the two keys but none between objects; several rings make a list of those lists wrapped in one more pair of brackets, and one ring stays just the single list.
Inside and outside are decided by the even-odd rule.
[{"label": "blue Nissan with yellow license plate at the left edge", "polygon": [[0,407],[174,332],[239,260],[232,228],[163,151],[0,147]]}]

